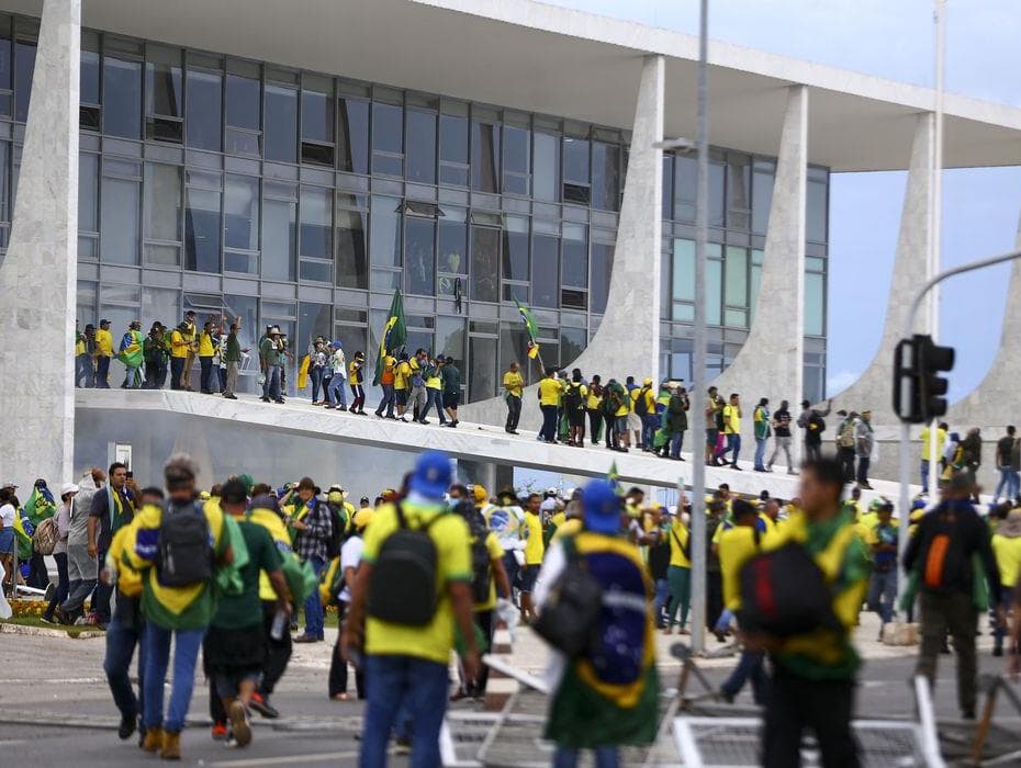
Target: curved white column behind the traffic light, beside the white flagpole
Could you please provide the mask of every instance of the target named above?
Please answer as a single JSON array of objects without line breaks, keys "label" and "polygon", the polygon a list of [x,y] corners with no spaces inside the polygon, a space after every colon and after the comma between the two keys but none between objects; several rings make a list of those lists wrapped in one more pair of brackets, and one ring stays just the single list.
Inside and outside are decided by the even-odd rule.
[{"label": "curved white column behind the traffic light, beside the white flagpole", "polygon": [[[930,167],[935,121],[932,113],[918,116],[908,184],[900,214],[900,234],[886,303],[886,325],[875,358],[865,372],[843,392],[833,397],[834,407],[848,410],[872,409],[876,425],[896,425],[893,407],[894,348],[904,335],[910,296],[925,282],[925,262],[932,236],[932,168]],[[1021,289],[1021,286],[1019,286]],[[1021,295],[1021,294],[1019,294]],[[1008,304],[1009,307],[1009,304]],[[1021,323],[1021,320],[1019,320]],[[924,313],[919,313],[917,332],[924,328]],[[832,394],[832,393],[831,393]],[[895,452],[896,453],[896,452]],[[896,455],[890,456],[891,466]]]}]

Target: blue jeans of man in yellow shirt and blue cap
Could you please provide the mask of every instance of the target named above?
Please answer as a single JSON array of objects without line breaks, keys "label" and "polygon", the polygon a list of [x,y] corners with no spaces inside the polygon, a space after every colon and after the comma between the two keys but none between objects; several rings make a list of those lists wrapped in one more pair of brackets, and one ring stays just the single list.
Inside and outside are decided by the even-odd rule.
[{"label": "blue jeans of man in yellow shirt and blue cap", "polygon": [[438,768],[439,730],[447,711],[447,665],[414,656],[366,656],[360,768],[386,765],[390,733],[403,710],[411,718],[411,768]]}]

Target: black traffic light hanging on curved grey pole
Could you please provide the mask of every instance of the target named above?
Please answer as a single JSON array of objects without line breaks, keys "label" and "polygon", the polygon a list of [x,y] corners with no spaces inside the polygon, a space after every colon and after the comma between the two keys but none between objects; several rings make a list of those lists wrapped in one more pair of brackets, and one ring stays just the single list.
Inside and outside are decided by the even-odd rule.
[{"label": "black traffic light hanging on curved grey pole", "polygon": [[901,421],[924,423],[946,413],[949,382],[940,374],[954,366],[954,348],[916,334],[894,352],[894,410]]}]

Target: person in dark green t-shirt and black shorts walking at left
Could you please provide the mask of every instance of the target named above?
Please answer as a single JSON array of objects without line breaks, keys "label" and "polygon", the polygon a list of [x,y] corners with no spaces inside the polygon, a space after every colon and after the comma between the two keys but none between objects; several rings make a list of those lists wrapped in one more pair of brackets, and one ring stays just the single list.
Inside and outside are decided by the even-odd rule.
[{"label": "person in dark green t-shirt and black shorts walking at left", "polygon": [[202,642],[202,655],[210,673],[210,684],[223,701],[231,722],[228,746],[246,746],[251,741],[248,702],[262,674],[266,636],[262,626],[262,601],[259,599],[259,572],[265,571],[277,595],[277,611],[291,613],[290,594],[280,571],[280,553],[262,526],[245,519],[248,495],[237,478],[227,481],[220,507],[229,515],[248,550],[248,562],[238,569],[240,590],[224,594],[216,605],[209,632]]}]

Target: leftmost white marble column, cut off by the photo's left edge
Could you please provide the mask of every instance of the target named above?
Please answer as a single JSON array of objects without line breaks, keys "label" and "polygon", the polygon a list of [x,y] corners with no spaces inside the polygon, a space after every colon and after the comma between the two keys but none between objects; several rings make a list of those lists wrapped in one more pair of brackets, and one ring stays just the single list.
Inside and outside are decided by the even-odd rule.
[{"label": "leftmost white marble column, cut off by the photo's left edge", "polygon": [[[18,200],[0,264],[0,476],[72,477],[80,0],[45,0]],[[38,350],[36,354],[26,351]]]}]

